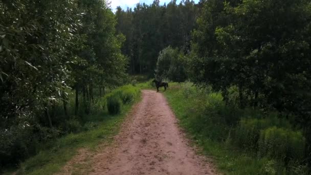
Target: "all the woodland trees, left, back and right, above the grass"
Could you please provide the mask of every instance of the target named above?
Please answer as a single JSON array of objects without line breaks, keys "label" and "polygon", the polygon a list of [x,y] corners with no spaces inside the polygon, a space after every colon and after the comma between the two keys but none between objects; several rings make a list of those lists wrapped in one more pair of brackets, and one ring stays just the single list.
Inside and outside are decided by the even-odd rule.
[{"label": "all the woodland trees, left, back and right, above the grass", "polygon": [[0,166],[69,133],[72,116],[90,114],[128,74],[145,74],[277,112],[303,135],[295,165],[310,167],[308,0],[156,0],[115,14],[104,0],[3,0],[0,14]]}]

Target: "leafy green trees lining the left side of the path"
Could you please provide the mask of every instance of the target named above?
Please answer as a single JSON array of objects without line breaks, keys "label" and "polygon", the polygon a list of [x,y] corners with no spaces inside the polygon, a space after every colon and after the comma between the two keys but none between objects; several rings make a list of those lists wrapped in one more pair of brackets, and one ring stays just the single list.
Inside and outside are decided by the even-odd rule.
[{"label": "leafy green trees lining the left side of the path", "polygon": [[89,114],[94,94],[123,83],[127,58],[104,0],[4,0],[0,14],[1,167]]}]

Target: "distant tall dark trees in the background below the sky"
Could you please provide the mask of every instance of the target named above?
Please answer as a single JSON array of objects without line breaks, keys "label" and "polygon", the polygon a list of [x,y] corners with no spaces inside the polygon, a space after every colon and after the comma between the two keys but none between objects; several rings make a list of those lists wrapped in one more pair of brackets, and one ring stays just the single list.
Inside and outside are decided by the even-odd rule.
[{"label": "distant tall dark trees in the background below the sky", "polygon": [[129,57],[129,73],[153,75],[159,52],[168,46],[189,52],[200,6],[190,0],[167,5],[156,0],[125,11],[118,7],[117,31],[126,36],[122,53]]}]

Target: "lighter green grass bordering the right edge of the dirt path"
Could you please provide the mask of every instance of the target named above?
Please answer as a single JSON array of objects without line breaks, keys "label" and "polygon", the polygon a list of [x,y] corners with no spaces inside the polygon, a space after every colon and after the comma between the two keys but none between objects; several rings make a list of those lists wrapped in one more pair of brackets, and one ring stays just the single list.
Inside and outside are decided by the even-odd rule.
[{"label": "lighter green grass bordering the right edge of the dirt path", "polygon": [[[198,147],[201,154],[211,157],[217,169],[224,174],[307,174],[306,166],[293,166],[286,170],[285,166],[275,159],[258,157],[257,152],[243,150],[232,141],[234,127],[223,125],[220,116],[235,118],[242,113],[230,114],[221,102],[219,93],[209,89],[199,89],[191,83],[170,83],[164,92],[179,124],[186,130],[188,137]],[[229,110],[229,108],[228,108]],[[249,114],[248,111],[242,111]],[[255,113],[252,111],[252,113]],[[250,113],[251,114],[251,113]],[[260,114],[256,114],[260,116]],[[225,117],[226,119],[226,117]],[[218,122],[218,120],[220,122]],[[227,119],[233,121],[236,119]],[[225,121],[225,120],[224,120]],[[227,129],[226,134],[221,134]],[[229,133],[229,134],[228,134]],[[214,136],[216,135],[216,136]]]}]

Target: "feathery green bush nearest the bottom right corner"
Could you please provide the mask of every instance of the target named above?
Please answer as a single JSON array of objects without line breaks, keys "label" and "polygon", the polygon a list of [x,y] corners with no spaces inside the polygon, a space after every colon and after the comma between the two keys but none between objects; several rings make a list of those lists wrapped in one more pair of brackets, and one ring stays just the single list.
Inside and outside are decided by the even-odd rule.
[{"label": "feathery green bush nearest the bottom right corner", "polygon": [[305,139],[301,132],[273,126],[261,130],[258,154],[287,164],[303,159],[304,146]]}]

